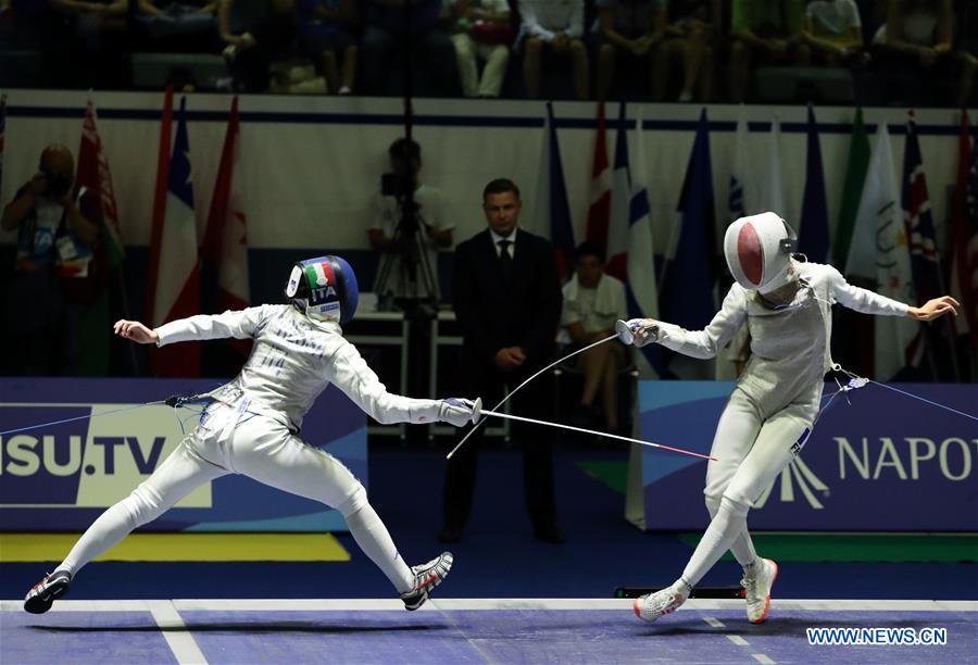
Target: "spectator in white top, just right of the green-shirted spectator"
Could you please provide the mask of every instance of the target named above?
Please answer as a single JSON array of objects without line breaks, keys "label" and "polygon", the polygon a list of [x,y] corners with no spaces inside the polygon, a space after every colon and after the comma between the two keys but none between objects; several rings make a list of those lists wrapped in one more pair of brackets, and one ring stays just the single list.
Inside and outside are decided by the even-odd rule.
[{"label": "spectator in white top, just right of the green-shirted spectator", "polygon": [[814,62],[838,67],[863,55],[863,21],[855,0],[815,0],[805,10],[804,46]]}]

